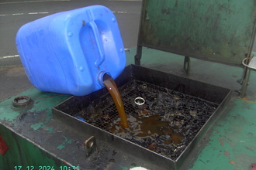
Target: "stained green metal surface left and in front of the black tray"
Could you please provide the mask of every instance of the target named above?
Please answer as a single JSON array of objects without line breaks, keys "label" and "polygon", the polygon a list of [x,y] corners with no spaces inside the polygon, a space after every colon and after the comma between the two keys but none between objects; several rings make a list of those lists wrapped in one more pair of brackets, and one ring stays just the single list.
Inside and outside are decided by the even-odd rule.
[{"label": "stained green metal surface left and in front of the black tray", "polygon": [[[22,166],[21,169],[40,169],[41,166],[42,169],[55,170],[129,169],[134,166],[157,169],[136,155],[116,150],[106,141],[97,141],[96,151],[92,151],[88,158],[85,141],[92,135],[55,121],[50,110],[70,95],[43,93],[33,88],[19,93],[19,96],[29,96],[32,102],[13,107],[12,101],[18,96],[0,102],[0,135],[9,147],[4,155],[0,155],[3,170],[15,166]],[[89,148],[93,146],[88,143]]]}]

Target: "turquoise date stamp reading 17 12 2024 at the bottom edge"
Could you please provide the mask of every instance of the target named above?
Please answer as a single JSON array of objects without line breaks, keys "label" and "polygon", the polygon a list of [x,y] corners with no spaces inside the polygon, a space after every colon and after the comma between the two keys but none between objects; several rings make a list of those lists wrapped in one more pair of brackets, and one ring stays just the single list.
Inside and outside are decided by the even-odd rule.
[{"label": "turquoise date stamp reading 17 12 2024 at the bottom edge", "polygon": [[15,166],[14,170],[79,170],[79,166]]}]

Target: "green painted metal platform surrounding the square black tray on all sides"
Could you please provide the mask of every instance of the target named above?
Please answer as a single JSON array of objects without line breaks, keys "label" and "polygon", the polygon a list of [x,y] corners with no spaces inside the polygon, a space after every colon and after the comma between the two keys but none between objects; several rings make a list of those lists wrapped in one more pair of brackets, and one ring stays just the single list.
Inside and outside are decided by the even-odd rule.
[{"label": "green painted metal platform surrounding the square black tray on all sides", "polygon": [[[126,49],[127,65],[134,63],[135,53],[135,48]],[[182,70],[183,59],[183,56],[144,48],[141,65],[233,91],[240,89],[237,83],[243,72],[240,67],[192,59],[191,73],[187,76]],[[248,170],[252,163],[256,163],[255,87],[256,74],[251,72],[247,97],[240,98],[236,92],[233,93],[221,117],[209,129],[209,137],[199,142],[190,155],[191,161],[185,162],[181,169]],[[107,144],[100,148],[105,158],[101,160],[104,168],[99,168],[102,165],[93,166],[94,159],[85,158],[83,148],[83,142],[88,136],[55,121],[51,114],[51,107],[66,100],[69,95],[42,93],[34,88],[20,95],[31,97],[33,105],[23,109],[13,108],[14,97],[0,103],[0,134],[9,145],[5,155],[0,155],[0,168],[3,170],[17,169],[16,166],[22,166],[21,169],[50,166],[58,170],[66,165],[79,166],[79,169],[105,170],[128,170],[133,166],[154,167],[151,166],[152,162],[144,162],[136,158],[136,155],[126,155],[122,151],[106,153],[104,149],[107,149]],[[88,166],[86,162],[89,162]],[[150,168],[153,169],[158,168]]]}]

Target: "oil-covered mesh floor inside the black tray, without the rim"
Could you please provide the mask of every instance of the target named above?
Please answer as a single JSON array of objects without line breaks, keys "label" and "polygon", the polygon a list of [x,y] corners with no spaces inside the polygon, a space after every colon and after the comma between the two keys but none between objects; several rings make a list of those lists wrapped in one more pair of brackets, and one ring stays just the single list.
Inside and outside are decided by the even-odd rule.
[{"label": "oil-covered mesh floor inside the black tray, without the rim", "polygon": [[[82,117],[89,124],[172,160],[182,154],[218,107],[218,104],[139,80],[131,80],[119,87],[119,91],[128,128],[123,128],[109,94],[93,101],[74,117]],[[136,104],[137,97],[143,98],[144,104]]]}]

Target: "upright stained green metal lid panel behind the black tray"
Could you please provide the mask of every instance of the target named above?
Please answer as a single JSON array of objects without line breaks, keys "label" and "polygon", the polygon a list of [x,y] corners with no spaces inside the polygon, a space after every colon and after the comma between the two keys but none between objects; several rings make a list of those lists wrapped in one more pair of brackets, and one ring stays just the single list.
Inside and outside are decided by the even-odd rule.
[{"label": "upright stained green metal lid panel behind the black tray", "polygon": [[255,19],[256,0],[144,0],[138,46],[238,66]]}]

